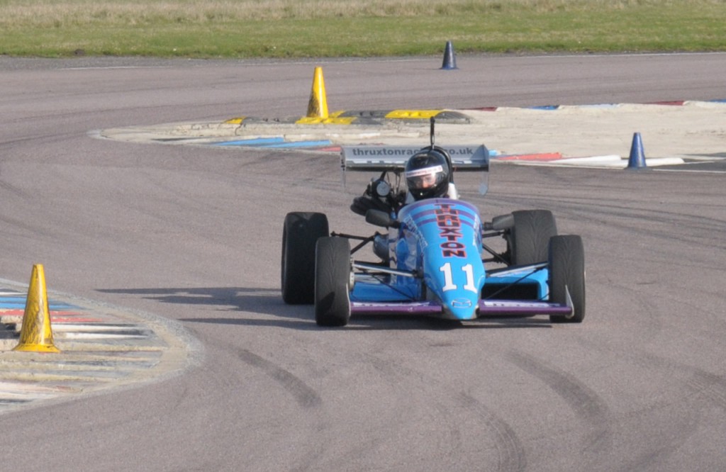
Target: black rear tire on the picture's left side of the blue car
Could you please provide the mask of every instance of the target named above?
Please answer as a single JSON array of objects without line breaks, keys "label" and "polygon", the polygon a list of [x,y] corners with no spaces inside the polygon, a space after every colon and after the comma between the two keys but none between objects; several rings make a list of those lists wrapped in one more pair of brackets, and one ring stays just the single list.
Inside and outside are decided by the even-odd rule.
[{"label": "black rear tire on the picture's left side of the blue car", "polygon": [[285,216],[280,282],[286,304],[314,302],[315,243],[319,237],[329,234],[324,213],[293,211]]}]

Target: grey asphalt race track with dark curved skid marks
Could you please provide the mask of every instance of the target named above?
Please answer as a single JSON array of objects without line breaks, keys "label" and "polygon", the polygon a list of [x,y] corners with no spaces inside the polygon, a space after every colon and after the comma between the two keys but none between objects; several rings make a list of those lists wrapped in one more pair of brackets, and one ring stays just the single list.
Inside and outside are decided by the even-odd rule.
[{"label": "grey asphalt race track with dark curved skid marks", "polygon": [[[709,101],[726,74],[725,54],[440,64],[322,65],[329,102],[359,110]],[[363,181],[341,190],[337,156],[94,137],[303,113],[313,65],[0,58],[0,276],[26,282],[43,263],[57,293],[166,319],[203,355],[136,388],[0,415],[4,470],[722,468],[719,160],[714,172],[494,163],[486,198],[457,182],[485,214],[548,208],[583,236],[582,325],[364,317],[321,330],[280,300],[280,235],[294,210],[370,232],[347,208]]]}]

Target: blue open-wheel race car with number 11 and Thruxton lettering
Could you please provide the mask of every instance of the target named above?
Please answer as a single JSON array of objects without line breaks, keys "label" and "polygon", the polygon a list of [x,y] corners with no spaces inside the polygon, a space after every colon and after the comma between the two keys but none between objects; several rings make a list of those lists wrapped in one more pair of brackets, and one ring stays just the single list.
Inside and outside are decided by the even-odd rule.
[{"label": "blue open-wheel race car with number 11 and Thruxton lettering", "polygon": [[[443,155],[456,172],[480,172],[488,188],[486,146],[343,147],[341,168],[380,172],[351,209],[385,228],[370,236],[330,232],[318,212],[287,213],[282,234],[282,298],[314,304],[320,326],[344,326],[358,314],[415,314],[446,320],[549,316],[579,323],[585,314],[584,248],[579,235],[558,235],[547,210],[481,219],[452,195],[412,200],[401,176],[414,155]],[[410,182],[409,182],[410,187]],[[505,251],[486,243],[503,238]],[[352,248],[351,248],[352,243]],[[376,261],[364,261],[372,245]]]}]

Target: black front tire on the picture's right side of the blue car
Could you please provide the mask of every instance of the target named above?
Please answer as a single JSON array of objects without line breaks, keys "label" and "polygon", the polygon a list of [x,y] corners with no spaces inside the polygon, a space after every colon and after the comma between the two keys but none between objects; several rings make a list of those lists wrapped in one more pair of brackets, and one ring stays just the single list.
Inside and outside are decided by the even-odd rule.
[{"label": "black front tire on the picture's right side of the blue car", "polygon": [[585,256],[582,237],[561,235],[550,240],[550,301],[566,304],[569,293],[571,317],[550,316],[555,323],[581,323],[585,317]]}]

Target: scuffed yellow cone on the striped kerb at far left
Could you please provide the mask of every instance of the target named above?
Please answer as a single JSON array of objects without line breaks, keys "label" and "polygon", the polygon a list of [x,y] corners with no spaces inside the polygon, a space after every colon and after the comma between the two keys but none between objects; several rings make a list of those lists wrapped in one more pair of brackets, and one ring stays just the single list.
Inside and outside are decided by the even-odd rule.
[{"label": "scuffed yellow cone on the striped kerb at far left", "polygon": [[60,352],[53,345],[43,264],[33,266],[28,298],[25,301],[23,327],[20,329],[20,343],[13,351]]}]

